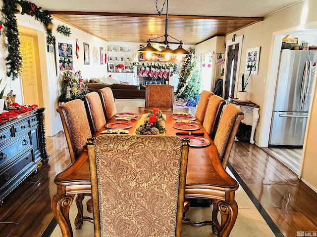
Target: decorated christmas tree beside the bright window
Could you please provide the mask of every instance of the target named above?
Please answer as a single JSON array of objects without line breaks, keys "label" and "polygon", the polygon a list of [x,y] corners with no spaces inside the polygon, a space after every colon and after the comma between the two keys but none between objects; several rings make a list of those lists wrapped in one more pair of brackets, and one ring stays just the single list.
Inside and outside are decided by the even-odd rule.
[{"label": "decorated christmas tree beside the bright window", "polygon": [[194,55],[195,50],[190,48],[190,54],[185,58],[185,62],[179,72],[179,81],[175,98],[184,100],[196,100],[201,89],[202,75],[198,67],[198,60]]}]

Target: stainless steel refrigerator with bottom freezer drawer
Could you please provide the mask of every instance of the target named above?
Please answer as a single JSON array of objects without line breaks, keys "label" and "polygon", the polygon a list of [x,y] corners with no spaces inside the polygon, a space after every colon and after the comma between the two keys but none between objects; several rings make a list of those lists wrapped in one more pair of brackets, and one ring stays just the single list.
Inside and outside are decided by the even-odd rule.
[{"label": "stainless steel refrigerator with bottom freezer drawer", "polygon": [[269,145],[303,146],[317,51],[282,50]]}]

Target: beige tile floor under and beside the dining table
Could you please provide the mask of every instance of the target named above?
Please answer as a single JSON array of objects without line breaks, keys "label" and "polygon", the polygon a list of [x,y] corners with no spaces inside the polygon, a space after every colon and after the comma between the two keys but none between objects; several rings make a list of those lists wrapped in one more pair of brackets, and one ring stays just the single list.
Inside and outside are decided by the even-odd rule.
[{"label": "beige tile floor under and beside the dining table", "polygon": [[[227,172],[234,178],[232,172],[227,168]],[[272,230],[266,224],[264,218],[248,197],[241,186],[236,191],[236,201],[238,203],[239,212],[237,221],[231,231],[230,237],[275,237]],[[86,200],[83,201],[86,203]],[[84,206],[86,210],[86,206]],[[70,208],[70,219],[74,220],[77,214],[76,203],[73,202]],[[93,217],[93,214],[85,211],[85,215]],[[187,217],[198,222],[203,220],[211,220],[211,209],[209,207],[191,207],[187,213]],[[81,230],[76,230],[72,222],[74,237],[94,237],[94,225],[84,222]],[[57,225],[51,237],[60,237],[60,228]],[[215,237],[211,234],[211,226],[200,228],[183,225],[182,237]]]}]

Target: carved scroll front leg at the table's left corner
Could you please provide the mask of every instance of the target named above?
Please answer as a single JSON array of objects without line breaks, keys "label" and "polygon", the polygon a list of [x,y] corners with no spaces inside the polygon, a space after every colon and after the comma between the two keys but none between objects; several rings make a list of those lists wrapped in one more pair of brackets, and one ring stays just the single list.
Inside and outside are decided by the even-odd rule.
[{"label": "carved scroll front leg at the table's left corner", "polygon": [[52,200],[52,209],[55,219],[60,227],[63,237],[73,237],[73,231],[69,221],[69,208],[75,195],[60,197],[55,194]]}]

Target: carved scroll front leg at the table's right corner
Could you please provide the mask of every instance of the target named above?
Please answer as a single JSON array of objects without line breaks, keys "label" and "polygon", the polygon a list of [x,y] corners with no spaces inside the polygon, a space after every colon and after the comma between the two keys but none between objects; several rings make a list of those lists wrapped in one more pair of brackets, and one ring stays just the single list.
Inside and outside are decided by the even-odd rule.
[{"label": "carved scroll front leg at the table's right corner", "polygon": [[238,205],[234,200],[230,204],[221,200],[217,200],[218,210],[221,214],[221,225],[218,237],[229,236],[238,215]]}]

